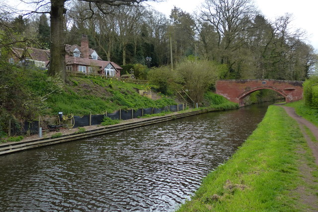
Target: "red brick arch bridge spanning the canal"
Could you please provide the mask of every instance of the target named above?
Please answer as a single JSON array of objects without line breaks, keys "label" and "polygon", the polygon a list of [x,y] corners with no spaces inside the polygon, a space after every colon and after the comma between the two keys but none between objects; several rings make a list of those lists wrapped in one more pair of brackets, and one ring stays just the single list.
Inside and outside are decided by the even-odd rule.
[{"label": "red brick arch bridge spanning the canal", "polygon": [[285,97],[287,103],[303,99],[303,81],[288,80],[219,80],[216,93],[244,106],[243,99],[254,91],[271,89]]}]

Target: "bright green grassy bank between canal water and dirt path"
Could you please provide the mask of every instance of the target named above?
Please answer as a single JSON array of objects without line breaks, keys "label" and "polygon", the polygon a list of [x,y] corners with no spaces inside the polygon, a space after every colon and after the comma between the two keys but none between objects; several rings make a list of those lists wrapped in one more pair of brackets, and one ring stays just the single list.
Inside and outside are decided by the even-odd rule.
[{"label": "bright green grassy bank between canal water and dirt path", "polygon": [[[208,174],[191,201],[178,211],[298,211],[299,148],[306,149],[297,123],[283,108],[270,106],[263,121],[237,153]],[[310,163],[313,158],[307,151]],[[304,158],[304,157],[303,157]],[[312,164],[313,165],[313,164]]]}]

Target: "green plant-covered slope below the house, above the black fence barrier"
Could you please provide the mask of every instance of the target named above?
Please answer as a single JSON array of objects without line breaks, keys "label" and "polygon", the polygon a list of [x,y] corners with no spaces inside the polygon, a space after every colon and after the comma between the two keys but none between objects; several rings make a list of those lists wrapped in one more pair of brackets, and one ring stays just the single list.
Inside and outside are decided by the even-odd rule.
[{"label": "green plant-covered slope below the house, above the black fence barrier", "polygon": [[[103,114],[118,109],[139,109],[147,107],[163,107],[175,105],[172,99],[161,97],[152,100],[139,95],[138,90],[145,90],[145,86],[125,83],[116,79],[103,79],[100,77],[71,78],[78,85],[67,85],[64,91],[54,93],[48,98],[49,109],[46,113],[85,115]],[[110,87],[111,85],[111,87]]]}]

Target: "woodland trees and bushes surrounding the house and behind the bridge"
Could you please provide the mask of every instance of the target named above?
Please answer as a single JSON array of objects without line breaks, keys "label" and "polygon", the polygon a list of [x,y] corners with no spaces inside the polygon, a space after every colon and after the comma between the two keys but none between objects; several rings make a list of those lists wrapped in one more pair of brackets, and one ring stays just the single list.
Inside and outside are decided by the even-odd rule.
[{"label": "woodland trees and bushes surrounding the house and behind the bridge", "polygon": [[[70,93],[65,45],[79,45],[82,34],[122,74],[134,71],[166,96],[183,89],[196,103],[218,79],[304,81],[317,71],[317,53],[292,28],[292,15],[268,20],[252,0],[206,0],[192,13],[174,7],[169,17],[147,0],[23,1],[23,11],[0,3],[0,131],[9,118],[30,120],[53,96]],[[10,64],[12,47],[50,49],[49,70]]]}]

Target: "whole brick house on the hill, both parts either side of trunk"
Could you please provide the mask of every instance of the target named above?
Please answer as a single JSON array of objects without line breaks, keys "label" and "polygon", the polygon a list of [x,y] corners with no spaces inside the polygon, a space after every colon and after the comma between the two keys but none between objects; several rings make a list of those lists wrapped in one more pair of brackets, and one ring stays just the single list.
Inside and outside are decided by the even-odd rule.
[{"label": "whole brick house on the hill, both parts either side of trunk", "polygon": [[[102,60],[95,50],[89,49],[86,35],[82,35],[80,46],[66,45],[65,51],[67,71],[120,77],[122,67],[114,62]],[[9,57],[9,62],[11,63],[32,63],[41,69],[48,68],[49,60],[49,50],[40,50],[35,48],[12,48],[12,52]]]}]

